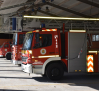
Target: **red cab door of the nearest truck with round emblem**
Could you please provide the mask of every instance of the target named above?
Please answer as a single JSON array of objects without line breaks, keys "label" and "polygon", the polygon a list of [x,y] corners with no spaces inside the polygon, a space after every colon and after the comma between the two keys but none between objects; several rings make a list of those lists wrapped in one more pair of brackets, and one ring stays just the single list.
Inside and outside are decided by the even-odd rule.
[{"label": "red cab door of the nearest truck with round emblem", "polygon": [[42,65],[46,59],[55,56],[55,47],[53,44],[53,32],[35,33],[35,42],[33,47],[34,64]]}]

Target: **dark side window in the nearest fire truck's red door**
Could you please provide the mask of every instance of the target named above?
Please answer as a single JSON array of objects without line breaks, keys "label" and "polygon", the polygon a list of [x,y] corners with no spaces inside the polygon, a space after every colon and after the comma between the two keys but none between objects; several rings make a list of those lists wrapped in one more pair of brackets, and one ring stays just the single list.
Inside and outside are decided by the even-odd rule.
[{"label": "dark side window in the nearest fire truck's red door", "polygon": [[47,47],[52,45],[52,35],[51,34],[35,34],[35,48]]}]

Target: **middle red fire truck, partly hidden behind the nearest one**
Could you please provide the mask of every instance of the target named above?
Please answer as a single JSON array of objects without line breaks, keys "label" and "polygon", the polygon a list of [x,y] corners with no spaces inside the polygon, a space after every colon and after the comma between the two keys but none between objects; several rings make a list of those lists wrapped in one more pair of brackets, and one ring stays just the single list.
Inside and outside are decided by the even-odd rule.
[{"label": "middle red fire truck, partly hidden behind the nearest one", "polygon": [[18,32],[13,34],[12,45],[12,63],[15,65],[21,64],[21,49],[23,46],[23,40],[26,32]]}]

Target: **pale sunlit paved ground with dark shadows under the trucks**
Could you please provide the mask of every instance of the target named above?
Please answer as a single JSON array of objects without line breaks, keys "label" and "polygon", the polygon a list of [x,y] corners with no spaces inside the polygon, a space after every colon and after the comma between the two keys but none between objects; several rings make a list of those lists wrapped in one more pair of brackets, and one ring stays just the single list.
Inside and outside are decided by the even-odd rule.
[{"label": "pale sunlit paved ground with dark shadows under the trucks", "polygon": [[99,74],[65,73],[59,81],[27,74],[0,58],[0,91],[99,91]]}]

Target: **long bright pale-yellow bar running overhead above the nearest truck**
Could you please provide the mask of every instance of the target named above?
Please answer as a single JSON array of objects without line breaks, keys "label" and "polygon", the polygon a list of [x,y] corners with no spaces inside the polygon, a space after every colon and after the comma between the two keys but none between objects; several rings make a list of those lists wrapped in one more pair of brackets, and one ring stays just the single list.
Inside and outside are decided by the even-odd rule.
[{"label": "long bright pale-yellow bar running overhead above the nearest truck", "polygon": [[99,18],[70,18],[70,17],[47,17],[47,16],[24,16],[24,18],[99,21]]}]

